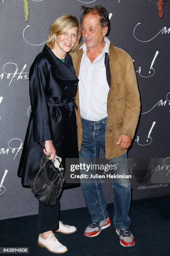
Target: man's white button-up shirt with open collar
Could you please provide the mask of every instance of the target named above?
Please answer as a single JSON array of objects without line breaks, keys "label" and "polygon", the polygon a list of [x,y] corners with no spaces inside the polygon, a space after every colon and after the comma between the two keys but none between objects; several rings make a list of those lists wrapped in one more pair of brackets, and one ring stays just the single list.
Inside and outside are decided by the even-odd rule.
[{"label": "man's white button-up shirt with open collar", "polygon": [[107,95],[109,85],[107,83],[105,68],[105,52],[109,54],[110,41],[105,37],[105,47],[101,54],[91,63],[87,57],[87,47],[80,47],[83,55],[80,64],[79,79],[79,103],[82,118],[91,121],[99,121],[107,117]]}]

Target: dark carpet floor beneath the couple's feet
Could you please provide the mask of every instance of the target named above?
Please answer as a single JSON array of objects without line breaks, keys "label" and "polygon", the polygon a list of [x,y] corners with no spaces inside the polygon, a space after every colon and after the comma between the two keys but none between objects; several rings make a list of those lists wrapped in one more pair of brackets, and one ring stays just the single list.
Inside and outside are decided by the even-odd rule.
[{"label": "dark carpet floor beneath the couple's feet", "polygon": [[[77,227],[77,232],[71,235],[56,233],[59,241],[69,249],[63,255],[170,255],[170,196],[132,202],[130,230],[135,236],[135,246],[130,248],[122,247],[119,243],[112,221],[112,204],[108,205],[108,212],[112,225],[102,230],[99,236],[87,238],[83,236],[85,227],[90,224],[87,208],[61,211],[60,220]],[[37,224],[38,215],[0,220],[0,246],[29,247],[31,256],[52,255],[46,249],[37,246]]]}]

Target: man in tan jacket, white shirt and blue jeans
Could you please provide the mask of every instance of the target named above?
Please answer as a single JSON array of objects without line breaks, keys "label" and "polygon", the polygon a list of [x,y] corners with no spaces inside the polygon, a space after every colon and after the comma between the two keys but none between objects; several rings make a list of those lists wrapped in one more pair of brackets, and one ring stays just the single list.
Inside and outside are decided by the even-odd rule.
[{"label": "man in tan jacket, white shirt and blue jeans", "polygon": [[[110,30],[107,11],[100,5],[82,6],[84,44],[72,55],[79,78],[76,103],[80,161],[97,159],[99,146],[109,164],[118,164],[118,174],[128,175],[127,149],[140,114],[140,96],[133,60],[106,37]],[[92,173],[93,171],[90,170]],[[84,235],[94,237],[110,226],[107,204],[99,179],[81,179],[82,192],[92,223]],[[133,246],[130,232],[130,179],[112,180],[114,224],[122,246]]]}]

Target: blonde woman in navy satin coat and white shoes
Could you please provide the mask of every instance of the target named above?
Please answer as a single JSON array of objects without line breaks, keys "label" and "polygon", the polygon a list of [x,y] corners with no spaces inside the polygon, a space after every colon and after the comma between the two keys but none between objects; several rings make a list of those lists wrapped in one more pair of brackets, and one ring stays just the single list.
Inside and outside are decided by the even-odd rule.
[{"label": "blonde woman in navy satin coat and white shoes", "polygon": [[[35,58],[29,74],[31,115],[20,159],[18,176],[29,186],[27,176],[42,155],[55,154],[62,160],[78,158],[75,95],[78,79],[68,52],[78,49],[81,29],[77,18],[62,15],[50,27],[44,49]],[[42,145],[42,148],[39,146]],[[65,161],[62,161],[65,167]],[[52,230],[74,233],[74,226],[59,221],[60,202],[53,207],[39,201],[38,245],[53,253],[65,253]]]}]

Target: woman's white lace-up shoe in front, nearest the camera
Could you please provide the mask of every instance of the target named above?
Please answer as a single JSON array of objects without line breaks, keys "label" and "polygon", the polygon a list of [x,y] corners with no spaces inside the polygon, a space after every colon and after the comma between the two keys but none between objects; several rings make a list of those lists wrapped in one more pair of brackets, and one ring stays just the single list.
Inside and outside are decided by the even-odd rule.
[{"label": "woman's white lace-up shoe in front, nearest the camera", "polygon": [[67,247],[63,246],[53,233],[51,233],[46,239],[39,235],[37,244],[52,253],[65,253],[68,251]]}]

